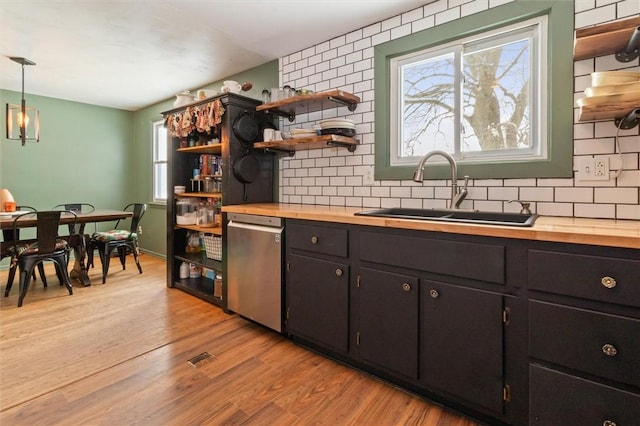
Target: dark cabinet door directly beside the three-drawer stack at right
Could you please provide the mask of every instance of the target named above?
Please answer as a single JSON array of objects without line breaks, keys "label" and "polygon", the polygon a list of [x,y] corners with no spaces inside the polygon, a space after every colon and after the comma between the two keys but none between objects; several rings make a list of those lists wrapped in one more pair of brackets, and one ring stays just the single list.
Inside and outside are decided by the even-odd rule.
[{"label": "dark cabinet door directly beside the three-drawer stack at right", "polygon": [[421,380],[501,413],[502,295],[435,281],[422,289]]}]

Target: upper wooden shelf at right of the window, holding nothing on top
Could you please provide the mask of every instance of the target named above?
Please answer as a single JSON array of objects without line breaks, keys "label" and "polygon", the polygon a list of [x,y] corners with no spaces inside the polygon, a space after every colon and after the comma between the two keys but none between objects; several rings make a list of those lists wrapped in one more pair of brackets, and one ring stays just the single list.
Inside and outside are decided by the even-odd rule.
[{"label": "upper wooden shelf at right of the window, holding nothing on top", "polygon": [[573,46],[574,60],[580,61],[624,50],[629,44],[631,34],[639,25],[640,17],[576,30]]}]

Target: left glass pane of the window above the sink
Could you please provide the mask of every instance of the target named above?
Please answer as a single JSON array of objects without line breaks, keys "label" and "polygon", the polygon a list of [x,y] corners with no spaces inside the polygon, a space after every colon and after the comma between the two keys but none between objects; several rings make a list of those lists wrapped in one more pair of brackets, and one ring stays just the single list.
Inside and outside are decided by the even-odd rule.
[{"label": "left glass pane of the window above the sink", "polygon": [[453,53],[402,66],[399,157],[454,152],[455,68]]}]

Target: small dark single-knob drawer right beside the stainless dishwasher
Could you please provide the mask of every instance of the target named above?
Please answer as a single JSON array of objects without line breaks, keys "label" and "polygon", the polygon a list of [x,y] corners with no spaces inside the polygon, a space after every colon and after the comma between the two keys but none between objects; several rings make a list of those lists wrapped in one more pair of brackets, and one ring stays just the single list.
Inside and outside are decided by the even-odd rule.
[{"label": "small dark single-knob drawer right beside the stainless dishwasher", "polygon": [[328,226],[287,224],[290,248],[333,256],[349,255],[348,231]]}]

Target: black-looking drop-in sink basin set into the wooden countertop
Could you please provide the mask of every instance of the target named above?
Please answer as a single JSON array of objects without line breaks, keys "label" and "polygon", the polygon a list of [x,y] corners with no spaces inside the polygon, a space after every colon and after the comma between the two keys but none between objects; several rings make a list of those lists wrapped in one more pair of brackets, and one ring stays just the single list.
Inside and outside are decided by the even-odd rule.
[{"label": "black-looking drop-in sink basin set into the wooden countertop", "polygon": [[443,222],[481,223],[485,225],[533,226],[537,214],[481,212],[472,210],[410,209],[392,207],[355,213],[356,216],[392,217],[395,219],[435,220]]}]

